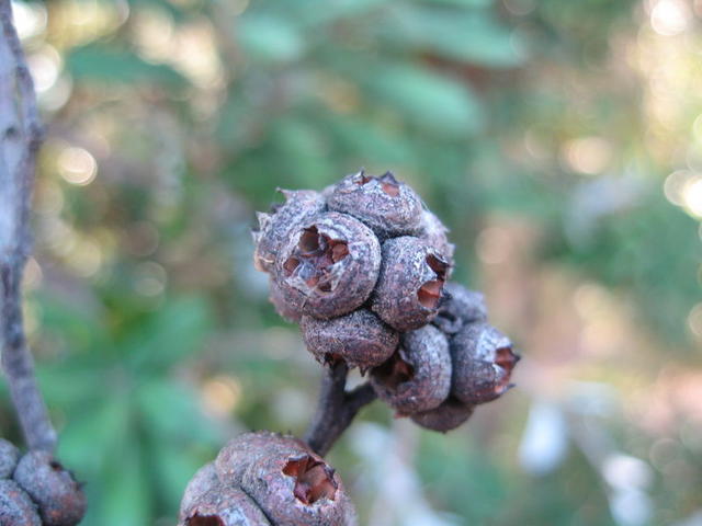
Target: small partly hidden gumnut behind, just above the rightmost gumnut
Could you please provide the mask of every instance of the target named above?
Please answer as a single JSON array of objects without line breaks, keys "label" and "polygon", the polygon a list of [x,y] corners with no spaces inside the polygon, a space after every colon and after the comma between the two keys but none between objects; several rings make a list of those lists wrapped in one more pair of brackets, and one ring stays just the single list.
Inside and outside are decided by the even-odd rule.
[{"label": "small partly hidden gumnut behind, just above the rightmost gumnut", "polygon": [[446,334],[455,334],[464,325],[487,320],[485,296],[468,290],[463,285],[449,282],[443,287],[444,297],[432,323]]}]

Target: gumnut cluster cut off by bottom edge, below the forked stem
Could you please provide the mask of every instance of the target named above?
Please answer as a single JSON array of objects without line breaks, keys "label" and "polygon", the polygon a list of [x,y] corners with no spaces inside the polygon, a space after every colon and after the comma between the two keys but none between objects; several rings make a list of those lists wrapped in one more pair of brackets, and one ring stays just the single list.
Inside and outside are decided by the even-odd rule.
[{"label": "gumnut cluster cut off by bottom edge, below the forked stem", "polygon": [[191,479],[179,526],[353,526],[339,474],[302,441],[261,431],[230,441]]}]

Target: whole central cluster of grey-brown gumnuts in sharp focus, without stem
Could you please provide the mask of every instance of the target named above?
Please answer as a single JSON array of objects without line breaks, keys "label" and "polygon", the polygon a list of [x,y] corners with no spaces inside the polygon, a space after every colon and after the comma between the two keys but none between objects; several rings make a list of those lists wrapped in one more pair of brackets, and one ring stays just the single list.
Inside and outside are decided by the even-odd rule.
[{"label": "whole central cluster of grey-brown gumnuts in sharp focus, without stem", "polygon": [[511,342],[482,294],[450,282],[448,229],[409,185],[361,171],[282,193],[259,214],[254,264],[317,361],[370,371],[397,415],[443,432],[511,387]]}]

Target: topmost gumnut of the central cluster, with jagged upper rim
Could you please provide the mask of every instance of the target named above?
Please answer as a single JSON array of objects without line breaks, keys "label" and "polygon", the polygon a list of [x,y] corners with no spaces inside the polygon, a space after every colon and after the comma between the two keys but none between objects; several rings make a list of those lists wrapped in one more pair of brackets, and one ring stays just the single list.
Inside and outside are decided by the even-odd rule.
[{"label": "topmost gumnut of the central cluster, with jagged upper rim", "polygon": [[349,214],[381,238],[416,235],[421,230],[421,201],[415,191],[387,172],[347,175],[328,197],[330,210]]}]

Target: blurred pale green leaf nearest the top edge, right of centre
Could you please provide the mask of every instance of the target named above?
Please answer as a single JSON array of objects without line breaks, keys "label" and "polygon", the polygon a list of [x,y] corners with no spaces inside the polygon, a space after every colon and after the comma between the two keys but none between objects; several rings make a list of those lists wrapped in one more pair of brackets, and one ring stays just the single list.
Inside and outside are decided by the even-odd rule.
[{"label": "blurred pale green leaf nearest the top edge, right of centre", "polygon": [[403,8],[388,18],[381,36],[407,47],[490,68],[513,68],[525,52],[519,38],[487,12],[437,8]]}]

